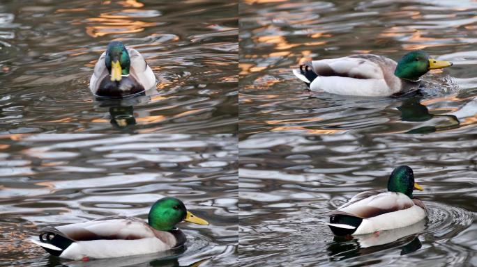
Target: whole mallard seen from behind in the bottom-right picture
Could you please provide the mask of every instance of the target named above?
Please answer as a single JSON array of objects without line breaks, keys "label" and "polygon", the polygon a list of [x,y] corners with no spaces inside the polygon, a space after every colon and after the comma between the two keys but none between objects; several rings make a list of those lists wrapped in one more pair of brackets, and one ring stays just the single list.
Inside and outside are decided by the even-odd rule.
[{"label": "whole mallard seen from behind in the bottom-right picture", "polygon": [[391,173],[388,191],[358,193],[346,204],[328,213],[333,234],[370,234],[414,225],[427,217],[421,200],[412,196],[414,189],[423,190],[414,182],[409,166],[399,166]]}]

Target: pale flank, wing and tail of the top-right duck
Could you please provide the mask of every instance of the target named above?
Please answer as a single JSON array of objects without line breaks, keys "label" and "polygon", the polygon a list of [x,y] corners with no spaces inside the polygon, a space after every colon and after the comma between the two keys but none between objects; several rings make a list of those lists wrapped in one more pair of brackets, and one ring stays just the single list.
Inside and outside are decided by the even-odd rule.
[{"label": "pale flank, wing and tail of the top-right duck", "polygon": [[312,60],[294,70],[310,90],[339,95],[384,96],[401,90],[394,76],[397,63],[384,56],[371,54],[343,58]]}]

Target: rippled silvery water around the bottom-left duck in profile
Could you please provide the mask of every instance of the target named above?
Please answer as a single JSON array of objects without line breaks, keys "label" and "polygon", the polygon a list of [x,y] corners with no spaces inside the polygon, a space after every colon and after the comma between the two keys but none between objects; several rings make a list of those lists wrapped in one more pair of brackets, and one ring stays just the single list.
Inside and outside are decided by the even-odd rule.
[{"label": "rippled silvery water around the bottom-left duck in profile", "polygon": [[[0,146],[0,266],[232,266],[238,243],[236,137],[7,136]],[[183,250],[86,263],[27,241],[45,225],[147,218],[174,196],[211,225],[181,223]]]}]

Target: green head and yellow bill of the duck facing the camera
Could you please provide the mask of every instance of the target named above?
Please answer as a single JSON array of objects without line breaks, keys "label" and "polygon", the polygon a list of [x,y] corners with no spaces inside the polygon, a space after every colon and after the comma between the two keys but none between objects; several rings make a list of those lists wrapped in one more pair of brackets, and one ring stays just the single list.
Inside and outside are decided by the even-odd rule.
[{"label": "green head and yellow bill of the duck facing the camera", "polygon": [[121,75],[129,74],[131,60],[123,42],[109,42],[106,49],[105,63],[109,74],[111,74],[111,81],[121,81]]}]

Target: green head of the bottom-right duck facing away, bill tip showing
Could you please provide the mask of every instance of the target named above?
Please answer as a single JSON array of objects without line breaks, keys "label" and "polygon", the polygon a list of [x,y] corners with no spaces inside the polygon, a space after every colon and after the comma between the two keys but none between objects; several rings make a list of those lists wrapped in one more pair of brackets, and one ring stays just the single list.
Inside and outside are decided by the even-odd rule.
[{"label": "green head of the bottom-right duck facing away, bill tip showing", "polygon": [[412,197],[414,189],[423,191],[423,188],[414,181],[414,173],[409,166],[402,165],[391,172],[388,181],[388,191],[399,192]]}]

